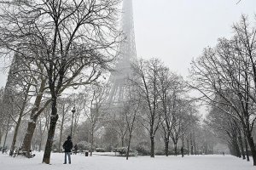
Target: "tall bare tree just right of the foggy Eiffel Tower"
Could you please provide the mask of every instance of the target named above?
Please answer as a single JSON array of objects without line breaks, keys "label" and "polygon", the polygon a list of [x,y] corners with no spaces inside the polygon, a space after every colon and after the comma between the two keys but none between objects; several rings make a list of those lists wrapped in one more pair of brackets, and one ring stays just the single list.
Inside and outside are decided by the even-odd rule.
[{"label": "tall bare tree just right of the foggy Eiffel Tower", "polygon": [[142,94],[144,115],[141,116],[144,127],[150,135],[150,156],[154,157],[154,135],[160,127],[161,116],[159,111],[160,94],[158,92],[158,71],[162,63],[158,59],[139,60],[133,65],[136,79],[132,82]]}]

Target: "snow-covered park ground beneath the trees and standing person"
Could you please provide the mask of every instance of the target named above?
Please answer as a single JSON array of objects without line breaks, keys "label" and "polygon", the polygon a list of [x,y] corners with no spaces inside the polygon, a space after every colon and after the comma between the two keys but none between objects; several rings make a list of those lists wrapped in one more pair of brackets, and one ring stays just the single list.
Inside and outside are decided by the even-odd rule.
[{"label": "snow-covered park ground beneath the trees and standing person", "polygon": [[89,156],[72,155],[72,164],[63,165],[64,154],[53,153],[51,165],[42,164],[43,153],[32,159],[0,154],[0,170],[256,170],[253,162],[234,156]]}]

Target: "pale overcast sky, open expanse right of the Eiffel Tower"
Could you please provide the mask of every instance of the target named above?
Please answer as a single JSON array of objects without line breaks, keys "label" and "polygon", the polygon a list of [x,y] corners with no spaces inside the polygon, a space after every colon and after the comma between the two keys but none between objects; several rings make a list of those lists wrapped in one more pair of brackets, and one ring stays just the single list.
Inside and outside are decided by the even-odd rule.
[{"label": "pale overcast sky, open expanse right of the Eiffel Tower", "polygon": [[[230,37],[230,27],[241,14],[253,20],[256,0],[237,2],[133,0],[137,56],[160,58],[172,71],[188,76],[191,59],[198,57],[203,48],[214,46],[218,37]],[[0,74],[0,78],[2,87],[6,76]]]}]

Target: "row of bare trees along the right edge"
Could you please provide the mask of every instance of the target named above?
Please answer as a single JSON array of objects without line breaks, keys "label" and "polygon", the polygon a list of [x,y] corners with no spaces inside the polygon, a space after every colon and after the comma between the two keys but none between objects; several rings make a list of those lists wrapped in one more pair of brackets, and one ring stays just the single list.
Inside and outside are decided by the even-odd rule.
[{"label": "row of bare trees along the right edge", "polygon": [[[246,15],[232,26],[232,37],[219,38],[193,60],[191,86],[209,105],[207,124],[229,145],[230,152],[256,165],[255,139],[255,26]],[[249,148],[249,149],[248,149]]]}]

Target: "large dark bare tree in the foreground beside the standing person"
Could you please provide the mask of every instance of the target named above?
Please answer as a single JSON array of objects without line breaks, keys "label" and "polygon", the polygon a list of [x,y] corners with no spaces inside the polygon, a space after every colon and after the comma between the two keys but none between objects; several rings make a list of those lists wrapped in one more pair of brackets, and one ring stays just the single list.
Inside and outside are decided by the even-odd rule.
[{"label": "large dark bare tree in the foreground beside the standing person", "polygon": [[52,106],[45,163],[49,164],[58,120],[58,95],[67,86],[95,82],[108,68],[119,37],[118,4],[118,0],[2,2],[2,54],[15,51],[44,65],[40,74],[47,77]]}]

